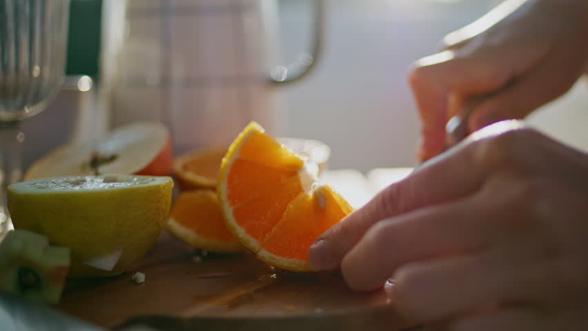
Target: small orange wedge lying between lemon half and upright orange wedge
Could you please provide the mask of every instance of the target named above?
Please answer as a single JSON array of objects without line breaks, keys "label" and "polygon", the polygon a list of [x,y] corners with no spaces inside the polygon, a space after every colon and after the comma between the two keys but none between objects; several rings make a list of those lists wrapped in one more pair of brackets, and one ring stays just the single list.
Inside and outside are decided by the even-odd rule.
[{"label": "small orange wedge lying between lemon half and upright orange wedge", "polygon": [[243,246],[226,229],[214,190],[182,192],[174,201],[166,228],[182,241],[201,250],[237,252]]}]

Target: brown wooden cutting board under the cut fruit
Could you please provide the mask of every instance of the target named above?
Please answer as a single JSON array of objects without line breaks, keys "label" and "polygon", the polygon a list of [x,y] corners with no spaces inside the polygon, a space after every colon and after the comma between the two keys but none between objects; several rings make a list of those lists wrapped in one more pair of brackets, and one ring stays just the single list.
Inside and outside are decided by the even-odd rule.
[{"label": "brown wooden cutting board under the cut fruit", "polygon": [[[164,232],[132,271],[68,281],[59,309],[106,328],[403,330],[383,291],[357,293],[337,274],[276,272],[251,254],[202,256]],[[135,271],[146,281],[131,281]],[[135,329],[133,329],[135,330]]]}]

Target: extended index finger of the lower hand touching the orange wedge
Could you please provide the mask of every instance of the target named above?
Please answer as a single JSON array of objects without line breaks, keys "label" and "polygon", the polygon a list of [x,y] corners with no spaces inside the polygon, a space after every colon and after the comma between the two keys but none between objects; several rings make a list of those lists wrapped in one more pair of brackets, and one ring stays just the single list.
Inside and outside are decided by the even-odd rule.
[{"label": "extended index finger of the lower hand touching the orange wedge", "polygon": [[476,191],[487,169],[476,164],[471,146],[456,148],[393,183],[364,207],[322,234],[308,249],[313,270],[334,270],[372,225],[389,217],[459,199]]}]

